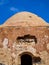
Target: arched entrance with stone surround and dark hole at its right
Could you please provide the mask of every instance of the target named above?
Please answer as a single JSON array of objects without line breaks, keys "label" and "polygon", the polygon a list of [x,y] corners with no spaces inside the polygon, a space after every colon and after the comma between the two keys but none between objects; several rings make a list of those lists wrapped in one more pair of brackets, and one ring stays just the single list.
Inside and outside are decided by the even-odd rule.
[{"label": "arched entrance with stone surround and dark hole at its right", "polygon": [[36,65],[41,64],[41,58],[34,56],[30,52],[23,52],[19,54],[18,65]]}]

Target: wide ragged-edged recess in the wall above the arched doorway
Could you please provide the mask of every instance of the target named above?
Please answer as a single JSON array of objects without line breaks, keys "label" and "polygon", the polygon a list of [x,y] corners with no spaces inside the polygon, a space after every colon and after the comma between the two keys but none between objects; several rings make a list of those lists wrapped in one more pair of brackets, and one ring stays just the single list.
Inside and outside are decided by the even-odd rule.
[{"label": "wide ragged-edged recess in the wall above the arched doorway", "polygon": [[17,37],[17,40],[19,42],[35,42],[37,43],[37,38],[35,36],[32,36],[32,35],[24,35],[24,36],[21,36],[21,37]]}]

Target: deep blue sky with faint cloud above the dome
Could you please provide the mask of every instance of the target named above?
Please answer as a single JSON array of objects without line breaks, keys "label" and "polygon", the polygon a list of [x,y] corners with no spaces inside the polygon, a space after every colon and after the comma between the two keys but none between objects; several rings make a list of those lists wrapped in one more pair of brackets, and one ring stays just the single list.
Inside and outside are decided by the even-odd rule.
[{"label": "deep blue sky with faint cloud above the dome", "polygon": [[21,11],[35,13],[49,23],[49,0],[0,0],[0,24]]}]

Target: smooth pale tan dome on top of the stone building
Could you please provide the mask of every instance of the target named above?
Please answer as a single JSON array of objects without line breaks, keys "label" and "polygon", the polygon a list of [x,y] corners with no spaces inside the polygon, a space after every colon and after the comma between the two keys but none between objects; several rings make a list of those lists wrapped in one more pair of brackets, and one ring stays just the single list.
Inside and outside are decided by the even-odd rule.
[{"label": "smooth pale tan dome on top of the stone building", "polygon": [[2,26],[49,26],[49,24],[35,14],[20,12],[9,18]]}]

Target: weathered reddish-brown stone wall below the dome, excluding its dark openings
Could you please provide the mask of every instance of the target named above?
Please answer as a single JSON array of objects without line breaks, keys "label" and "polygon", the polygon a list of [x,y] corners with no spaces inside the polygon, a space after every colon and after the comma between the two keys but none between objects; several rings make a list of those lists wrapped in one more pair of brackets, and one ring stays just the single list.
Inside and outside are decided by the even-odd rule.
[{"label": "weathered reddish-brown stone wall below the dome, excluding its dark openings", "polygon": [[[28,34],[35,36],[37,43],[17,40]],[[21,65],[24,52],[41,58],[36,65],[49,65],[49,27],[0,27],[0,63]]]}]

